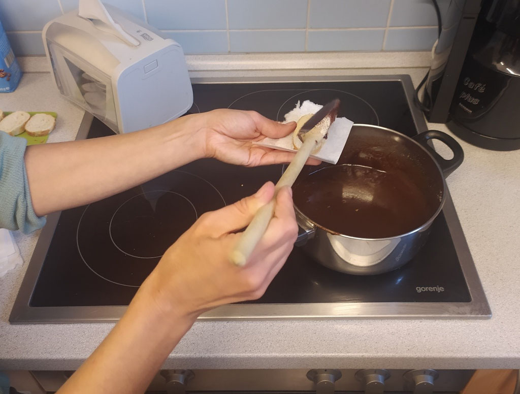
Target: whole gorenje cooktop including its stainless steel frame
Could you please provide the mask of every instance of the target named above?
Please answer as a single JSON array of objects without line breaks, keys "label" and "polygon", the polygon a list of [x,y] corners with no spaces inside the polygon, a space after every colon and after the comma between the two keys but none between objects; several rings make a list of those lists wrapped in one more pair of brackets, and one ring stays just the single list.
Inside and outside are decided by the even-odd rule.
[{"label": "whole gorenje cooktop including its stainless steel frame", "polygon": [[[338,116],[413,136],[426,130],[408,75],[319,81],[194,81],[189,112],[256,110],[283,120],[298,100],[340,98]],[[113,132],[89,114],[77,139]],[[204,212],[253,194],[280,165],[245,168],[203,159],[105,200],[49,215],[12,309],[12,323],[114,321],[165,249]],[[448,193],[420,253],[384,274],[319,265],[295,247],[255,301],[200,319],[488,318],[490,310]]]}]

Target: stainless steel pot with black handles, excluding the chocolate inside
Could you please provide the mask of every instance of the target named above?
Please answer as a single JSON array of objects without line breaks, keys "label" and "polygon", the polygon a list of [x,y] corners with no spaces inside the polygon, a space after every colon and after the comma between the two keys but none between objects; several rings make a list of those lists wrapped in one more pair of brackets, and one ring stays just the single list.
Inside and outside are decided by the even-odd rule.
[{"label": "stainless steel pot with black handles, excluding the chocolate inside", "polygon": [[[444,159],[428,145],[431,139],[443,141],[453,152],[453,158]],[[443,208],[446,198],[447,177],[464,159],[459,143],[449,135],[430,130],[413,139],[394,130],[354,125],[337,164],[355,164],[384,171],[406,173],[415,185],[424,191],[425,198],[438,203],[435,214],[418,228],[389,238],[357,238],[338,234],[305,216],[295,206],[301,228],[296,245],[305,249],[317,262],[333,270],[358,275],[392,271],[410,261],[424,245],[432,222]],[[328,166],[330,164],[324,164]],[[305,167],[301,177],[316,170]],[[374,224],[376,225],[376,224]]]}]

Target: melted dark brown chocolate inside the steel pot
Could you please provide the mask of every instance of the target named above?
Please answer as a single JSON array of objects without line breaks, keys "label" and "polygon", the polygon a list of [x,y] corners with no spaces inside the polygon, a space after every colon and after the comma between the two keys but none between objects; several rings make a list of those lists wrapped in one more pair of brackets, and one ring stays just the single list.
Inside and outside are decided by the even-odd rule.
[{"label": "melted dark brown chocolate inside the steel pot", "polygon": [[293,199],[318,225],[359,238],[404,234],[422,226],[436,209],[405,174],[351,164],[298,179]]}]

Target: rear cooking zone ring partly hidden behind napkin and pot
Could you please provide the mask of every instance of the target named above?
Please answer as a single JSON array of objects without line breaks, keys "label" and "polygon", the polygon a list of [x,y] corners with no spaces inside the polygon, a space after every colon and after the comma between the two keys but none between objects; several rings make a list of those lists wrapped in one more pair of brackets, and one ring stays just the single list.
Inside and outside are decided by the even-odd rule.
[{"label": "rear cooking zone ring partly hidden behind napkin and pot", "polygon": [[[280,94],[284,93],[284,97],[287,97],[288,92],[291,92],[291,96],[283,101],[281,106],[278,107],[276,101],[273,100],[273,98],[276,97],[276,95],[273,95],[273,92],[280,92]],[[229,104],[228,108],[239,110],[256,110],[258,108],[258,102],[262,102],[264,107],[267,106],[270,108],[269,111],[264,111],[266,113],[263,114],[268,117],[274,117],[276,111],[276,117],[274,117],[274,119],[282,122],[284,120],[284,115],[294,109],[298,100],[300,100],[300,102],[310,100],[316,104],[326,104],[335,98],[339,98],[341,100],[341,106],[337,113],[338,117],[346,117],[354,123],[379,125],[379,116],[375,112],[375,109],[367,101],[352,93],[348,93],[348,91],[338,89],[257,90],[234,100],[231,102],[231,104]]]}]

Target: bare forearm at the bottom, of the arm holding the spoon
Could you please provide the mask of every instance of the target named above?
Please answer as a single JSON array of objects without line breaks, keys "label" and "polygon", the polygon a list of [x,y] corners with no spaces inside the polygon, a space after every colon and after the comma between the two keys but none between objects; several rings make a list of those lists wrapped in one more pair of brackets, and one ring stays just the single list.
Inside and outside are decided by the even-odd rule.
[{"label": "bare forearm at the bottom, of the arm holding the spoon", "polygon": [[145,392],[194,317],[180,311],[164,314],[144,293],[138,292],[123,318],[59,394]]}]

